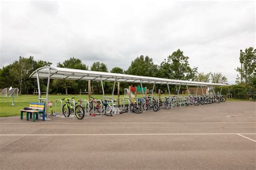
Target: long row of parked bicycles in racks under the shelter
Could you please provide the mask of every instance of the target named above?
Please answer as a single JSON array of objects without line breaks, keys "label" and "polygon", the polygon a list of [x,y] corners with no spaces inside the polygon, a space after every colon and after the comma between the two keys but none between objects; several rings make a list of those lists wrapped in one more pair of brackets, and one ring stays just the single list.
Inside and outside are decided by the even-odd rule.
[{"label": "long row of parked bicycles in racks under the shelter", "polygon": [[169,97],[144,96],[142,98],[134,97],[117,99],[112,97],[103,97],[102,100],[97,100],[97,98],[91,97],[90,101],[80,99],[78,102],[71,97],[63,98],[61,103],[64,102],[62,105],[62,113],[65,117],[69,117],[71,114],[74,114],[78,119],[83,119],[84,116],[113,116],[125,112],[134,112],[136,114],[140,114],[144,110],[158,111],[161,108],[171,109],[190,105],[220,103],[225,101],[225,95],[215,94]]}]

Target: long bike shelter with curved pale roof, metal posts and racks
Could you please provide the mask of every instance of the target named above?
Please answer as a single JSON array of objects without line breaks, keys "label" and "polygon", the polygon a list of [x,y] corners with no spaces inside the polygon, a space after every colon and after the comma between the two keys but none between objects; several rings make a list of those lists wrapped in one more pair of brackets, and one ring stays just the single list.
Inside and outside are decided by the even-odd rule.
[{"label": "long bike shelter with curved pale roof, metal posts and racks", "polygon": [[[90,71],[90,70],[80,70],[80,69],[70,69],[70,68],[59,68],[59,67],[41,67],[35,70],[30,77],[36,78],[37,79],[37,86],[38,86],[38,100],[39,102],[46,102],[49,103],[49,86],[50,86],[50,79],[60,79],[60,80],[84,80],[88,81],[88,95],[89,98],[91,96],[91,81],[100,81],[102,84],[102,91],[103,91],[103,100],[107,99],[112,102],[112,105],[115,103],[124,103],[126,101],[131,101],[131,98],[121,98],[119,97],[119,87],[118,87],[118,98],[114,98],[114,88],[116,86],[116,82],[127,82],[127,83],[140,83],[140,87],[142,88],[142,94],[144,96],[144,90],[143,90],[143,83],[147,84],[153,84],[153,90],[155,87],[155,84],[167,84],[167,88],[169,91],[169,97],[171,97],[170,93],[170,84],[175,84],[179,86],[178,89],[178,94],[177,96],[174,96],[177,100],[176,101],[184,101],[186,102],[188,98],[180,97],[179,96],[179,91],[180,91],[180,86],[184,85],[187,87],[188,86],[196,86],[197,90],[198,87],[201,87],[202,93],[203,93],[203,88],[202,86],[229,86],[228,84],[222,84],[222,83],[209,83],[209,82],[198,82],[198,81],[185,81],[185,80],[173,80],[173,79],[163,79],[163,78],[158,78],[158,77],[148,77],[148,76],[136,76],[136,75],[127,75],[127,74],[118,74],[118,73],[105,73],[105,72],[95,72],[95,71]],[[46,87],[46,98],[42,98],[41,96],[41,88],[40,88],[40,82],[39,79],[48,79],[47,81],[47,87]],[[114,82],[113,84],[113,90],[112,90],[112,96],[105,96],[104,92],[104,86],[103,86],[103,81],[109,81],[109,82]],[[152,90],[152,96],[153,96],[153,90]],[[188,90],[189,91],[189,90]],[[136,99],[138,101],[138,99]],[[145,102],[145,98],[140,98],[142,102]],[[84,103],[85,108],[86,105],[88,107],[89,101],[85,99],[80,99],[82,103]],[[159,105],[159,98],[157,98],[158,105]],[[61,100],[56,100],[55,101],[55,111],[57,107],[57,103],[60,103],[62,106],[63,103]],[[75,101],[72,101],[73,104],[75,105]],[[131,104],[128,102],[129,105]],[[138,103],[138,102],[137,102]],[[181,104],[183,102],[180,102]],[[121,104],[122,105],[122,104]],[[122,106],[121,106],[122,108]],[[130,111],[130,110],[129,110]],[[49,105],[46,104],[46,120],[49,119]],[[100,113],[102,114],[102,112]],[[87,112],[87,115],[90,115],[89,111]]]}]

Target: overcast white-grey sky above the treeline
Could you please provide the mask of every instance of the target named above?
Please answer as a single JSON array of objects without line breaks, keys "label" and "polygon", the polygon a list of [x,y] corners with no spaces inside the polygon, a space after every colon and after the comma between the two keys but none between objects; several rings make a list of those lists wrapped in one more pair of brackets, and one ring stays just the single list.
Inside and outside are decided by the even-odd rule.
[{"label": "overcast white-grey sky above the treeline", "polygon": [[0,67],[19,56],[127,69],[178,48],[199,72],[234,83],[239,51],[255,48],[255,1],[1,1]]}]

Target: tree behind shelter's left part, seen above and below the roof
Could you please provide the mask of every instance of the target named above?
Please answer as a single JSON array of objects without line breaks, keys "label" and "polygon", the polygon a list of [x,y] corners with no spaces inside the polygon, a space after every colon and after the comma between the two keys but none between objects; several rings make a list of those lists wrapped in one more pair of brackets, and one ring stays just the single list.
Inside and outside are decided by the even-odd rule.
[{"label": "tree behind shelter's left part, seen above and below the roof", "polygon": [[[74,57],[65,60],[63,63],[58,63],[57,67],[62,67],[62,68],[72,68],[72,69],[82,69],[82,70],[88,70],[88,66],[86,66],[82,60],[76,59]],[[57,87],[62,87],[65,89],[66,95],[68,95],[68,89],[73,89],[77,90],[79,87],[81,88],[85,86],[84,83],[82,82],[77,82],[77,81],[72,81],[72,80],[58,80],[58,81],[53,81],[53,84]]]}]

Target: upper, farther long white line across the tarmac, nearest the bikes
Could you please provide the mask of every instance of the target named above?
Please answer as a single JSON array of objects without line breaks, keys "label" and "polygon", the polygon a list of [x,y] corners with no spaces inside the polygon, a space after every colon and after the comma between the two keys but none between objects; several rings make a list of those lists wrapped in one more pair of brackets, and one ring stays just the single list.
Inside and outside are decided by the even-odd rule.
[{"label": "upper, farther long white line across the tarmac, nearest the bikes", "polygon": [[56,123],[0,123],[0,124],[256,124],[256,122],[56,122]]}]

